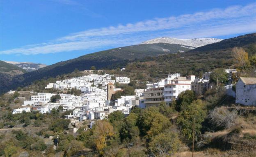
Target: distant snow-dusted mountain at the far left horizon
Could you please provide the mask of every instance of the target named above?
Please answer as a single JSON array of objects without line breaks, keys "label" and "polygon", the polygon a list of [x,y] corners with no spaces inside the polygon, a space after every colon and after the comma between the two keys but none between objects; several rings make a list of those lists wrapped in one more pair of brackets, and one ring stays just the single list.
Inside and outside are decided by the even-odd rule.
[{"label": "distant snow-dusted mountain at the far left horizon", "polygon": [[12,61],[4,61],[9,64],[14,64],[22,69],[25,69],[26,71],[35,71],[39,68],[46,67],[46,64],[40,64],[40,63],[32,63],[32,62],[12,62]]}]

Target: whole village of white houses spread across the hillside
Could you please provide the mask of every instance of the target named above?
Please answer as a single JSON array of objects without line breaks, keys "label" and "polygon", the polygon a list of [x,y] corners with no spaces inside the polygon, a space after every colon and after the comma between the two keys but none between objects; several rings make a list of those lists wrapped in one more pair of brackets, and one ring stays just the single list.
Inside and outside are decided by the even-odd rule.
[{"label": "whole village of white houses spread across the hillside", "polygon": [[[210,88],[217,88],[210,83],[210,73],[203,74],[202,78],[195,75],[182,77],[180,73],[169,74],[167,78],[155,83],[148,82],[145,89],[135,89],[135,95],[123,95],[113,100],[112,95],[122,88],[116,88],[114,84],[127,85],[130,78],[115,76],[105,73],[104,75],[93,74],[93,71],[85,71],[88,74],[81,77],[73,77],[67,80],[49,83],[45,88],[72,89],[81,91],[80,95],[63,93],[35,93],[30,100],[23,100],[23,104],[12,111],[12,114],[39,111],[46,114],[51,113],[60,106],[63,111],[73,111],[73,114],[65,115],[75,126],[76,122],[89,120],[92,126],[97,119],[105,119],[114,111],[121,111],[129,115],[133,106],[148,108],[158,106],[160,102],[171,105],[178,95],[186,90],[192,90],[196,94],[203,94]],[[229,80],[236,69],[226,69]],[[231,82],[231,81],[229,81]],[[256,78],[241,77],[233,91],[234,84],[228,83],[221,88],[226,94],[236,98],[236,103],[242,105],[256,105]],[[9,91],[13,94],[16,91]],[[53,101],[55,98],[55,101]]]}]

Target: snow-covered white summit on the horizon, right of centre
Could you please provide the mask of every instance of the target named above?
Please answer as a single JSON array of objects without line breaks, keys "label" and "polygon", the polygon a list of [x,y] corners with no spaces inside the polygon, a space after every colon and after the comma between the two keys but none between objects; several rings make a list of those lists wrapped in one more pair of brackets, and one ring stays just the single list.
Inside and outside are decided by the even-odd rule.
[{"label": "snow-covered white summit on the horizon, right of centre", "polygon": [[142,44],[158,44],[158,43],[179,44],[183,46],[190,46],[187,48],[193,49],[193,47],[197,48],[200,46],[213,44],[215,42],[220,42],[220,41],[222,41],[222,39],[216,39],[216,38],[176,39],[176,38],[161,37],[161,38],[155,38],[155,39],[142,42]]}]

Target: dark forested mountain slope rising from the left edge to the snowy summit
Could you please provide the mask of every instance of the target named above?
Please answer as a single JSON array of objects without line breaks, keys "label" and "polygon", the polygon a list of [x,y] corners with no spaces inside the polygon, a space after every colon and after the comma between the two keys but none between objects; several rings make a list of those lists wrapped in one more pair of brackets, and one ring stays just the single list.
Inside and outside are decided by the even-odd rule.
[{"label": "dark forested mountain slope rising from the left edge to the snowy summit", "polygon": [[119,65],[125,66],[128,62],[133,60],[143,59],[144,57],[159,56],[169,53],[185,52],[190,49],[178,44],[139,44],[133,46],[119,47],[106,51],[100,51],[83,55],[78,58],[58,62],[56,64],[46,66],[37,71],[29,72],[25,75],[15,77],[11,82],[1,86],[2,91],[8,91],[17,86],[27,85],[34,80],[56,77],[64,73],[71,73],[75,69],[85,70],[90,69],[91,66],[101,68],[115,68]]}]

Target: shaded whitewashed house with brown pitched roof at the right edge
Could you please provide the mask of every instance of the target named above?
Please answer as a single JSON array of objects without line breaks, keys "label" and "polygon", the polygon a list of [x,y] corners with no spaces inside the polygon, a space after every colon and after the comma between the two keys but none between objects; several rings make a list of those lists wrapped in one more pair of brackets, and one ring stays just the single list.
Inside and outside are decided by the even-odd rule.
[{"label": "shaded whitewashed house with brown pitched roof at the right edge", "polygon": [[256,78],[240,77],[235,86],[235,103],[256,106]]}]

